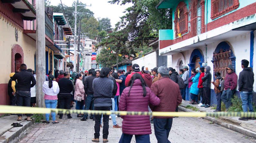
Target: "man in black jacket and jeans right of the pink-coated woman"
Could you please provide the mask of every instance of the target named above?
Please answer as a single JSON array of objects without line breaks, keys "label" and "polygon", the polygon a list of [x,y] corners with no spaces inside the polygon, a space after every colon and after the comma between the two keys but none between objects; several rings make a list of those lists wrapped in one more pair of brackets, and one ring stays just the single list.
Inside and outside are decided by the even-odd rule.
[{"label": "man in black jacket and jeans right of the pink-coated woman", "polygon": [[[94,103],[93,103],[93,88],[92,88],[92,82],[93,80],[97,78],[96,77],[96,71],[94,70],[89,70],[89,76],[85,79],[85,82],[84,82],[84,92],[85,92],[85,95],[86,95],[86,107],[85,107],[85,110],[89,110],[90,108],[90,104],[92,102],[92,110],[94,110]],[[81,121],[86,121],[87,120],[87,117],[88,117],[88,114],[84,114],[83,118],[81,119]],[[93,119],[93,121],[95,121],[94,119],[94,115],[92,115],[90,117],[90,119]]]}]

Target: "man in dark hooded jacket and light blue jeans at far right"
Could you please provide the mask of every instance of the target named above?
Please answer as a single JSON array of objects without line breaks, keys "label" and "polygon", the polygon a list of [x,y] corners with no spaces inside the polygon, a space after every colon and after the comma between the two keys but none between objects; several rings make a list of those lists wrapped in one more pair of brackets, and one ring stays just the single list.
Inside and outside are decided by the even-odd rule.
[{"label": "man in dark hooded jacket and light blue jeans at far right", "polygon": [[[241,95],[242,99],[242,107],[243,112],[247,113],[248,107],[249,112],[253,112],[253,107],[251,104],[251,96],[252,96],[252,90],[253,90],[253,83],[254,83],[254,74],[251,67],[248,67],[249,61],[248,60],[242,60],[242,68],[243,70],[239,74],[238,78],[238,90]],[[248,119],[254,120],[252,117],[242,117],[238,120],[247,121]]]}]

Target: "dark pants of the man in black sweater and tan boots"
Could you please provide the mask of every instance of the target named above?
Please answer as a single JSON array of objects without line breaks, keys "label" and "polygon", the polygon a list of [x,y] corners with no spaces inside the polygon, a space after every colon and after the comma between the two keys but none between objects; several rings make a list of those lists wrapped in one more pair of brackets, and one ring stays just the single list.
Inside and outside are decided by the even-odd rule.
[{"label": "dark pants of the man in black sweater and tan boots", "polygon": [[[22,106],[23,102],[26,107],[30,107],[31,94],[30,91],[16,91],[17,96],[17,106]],[[22,116],[22,114],[18,114]],[[27,117],[30,117],[31,114],[27,114]]]}]

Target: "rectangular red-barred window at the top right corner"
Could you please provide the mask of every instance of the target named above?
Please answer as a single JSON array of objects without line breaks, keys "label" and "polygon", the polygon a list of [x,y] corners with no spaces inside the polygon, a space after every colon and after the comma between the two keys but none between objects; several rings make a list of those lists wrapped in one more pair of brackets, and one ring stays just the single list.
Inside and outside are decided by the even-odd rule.
[{"label": "rectangular red-barred window at the top right corner", "polygon": [[211,19],[215,19],[239,7],[239,0],[211,0]]}]

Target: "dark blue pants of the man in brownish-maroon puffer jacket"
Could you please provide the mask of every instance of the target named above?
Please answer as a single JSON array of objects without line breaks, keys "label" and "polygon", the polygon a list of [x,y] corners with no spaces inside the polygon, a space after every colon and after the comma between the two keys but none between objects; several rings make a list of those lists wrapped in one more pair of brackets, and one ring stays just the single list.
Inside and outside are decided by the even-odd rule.
[{"label": "dark blue pants of the man in brownish-maroon puffer jacket", "polygon": [[173,118],[159,119],[154,118],[154,129],[158,143],[171,143],[168,140],[172,128]]}]

